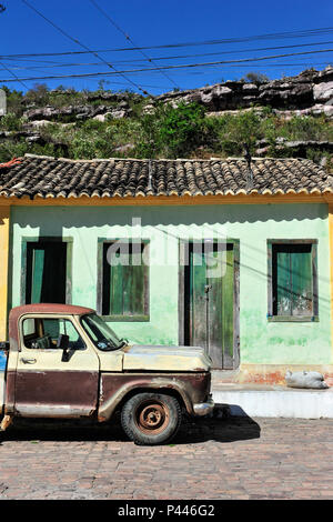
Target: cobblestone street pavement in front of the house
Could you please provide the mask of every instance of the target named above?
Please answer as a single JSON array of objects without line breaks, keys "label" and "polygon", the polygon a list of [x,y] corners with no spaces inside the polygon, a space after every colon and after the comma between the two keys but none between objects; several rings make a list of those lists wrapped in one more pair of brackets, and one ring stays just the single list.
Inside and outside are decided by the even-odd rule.
[{"label": "cobblestone street pavement in front of the house", "polygon": [[1,435],[0,499],[333,499],[333,420],[186,420],[138,446],[119,423],[20,421]]}]

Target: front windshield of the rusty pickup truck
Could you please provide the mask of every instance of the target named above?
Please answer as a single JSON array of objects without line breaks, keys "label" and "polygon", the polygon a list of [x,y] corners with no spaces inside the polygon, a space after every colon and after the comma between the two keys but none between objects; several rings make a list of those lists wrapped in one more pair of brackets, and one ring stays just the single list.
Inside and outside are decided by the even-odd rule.
[{"label": "front windshield of the rusty pickup truck", "polygon": [[99,350],[110,351],[127,344],[127,341],[119,339],[113,330],[95,313],[83,315],[81,324],[85,332]]}]

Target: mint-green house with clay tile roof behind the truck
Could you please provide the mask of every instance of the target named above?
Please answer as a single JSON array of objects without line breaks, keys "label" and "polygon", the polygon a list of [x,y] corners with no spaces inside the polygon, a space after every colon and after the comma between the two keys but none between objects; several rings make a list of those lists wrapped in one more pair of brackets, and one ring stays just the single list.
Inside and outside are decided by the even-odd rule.
[{"label": "mint-green house with clay tile roof behind the truck", "polygon": [[2,321],[73,303],[240,381],[333,377],[333,184],[311,161],[24,157],[0,177]]}]

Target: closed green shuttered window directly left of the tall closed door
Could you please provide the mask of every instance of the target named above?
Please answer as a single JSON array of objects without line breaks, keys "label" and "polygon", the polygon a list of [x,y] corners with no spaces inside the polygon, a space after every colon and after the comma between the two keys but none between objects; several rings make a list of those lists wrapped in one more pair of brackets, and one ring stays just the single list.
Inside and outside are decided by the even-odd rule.
[{"label": "closed green shuttered window directly left of the tall closed door", "polygon": [[148,321],[149,242],[103,242],[102,258],[102,315],[113,321]]}]

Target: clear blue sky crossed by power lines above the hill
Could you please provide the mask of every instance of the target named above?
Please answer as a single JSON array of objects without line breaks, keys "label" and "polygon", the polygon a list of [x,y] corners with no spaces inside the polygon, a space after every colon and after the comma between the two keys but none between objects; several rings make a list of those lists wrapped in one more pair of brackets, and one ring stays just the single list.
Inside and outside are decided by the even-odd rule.
[{"label": "clear blue sky crossed by power lines above the hill", "polygon": [[[102,16],[90,0],[29,0],[44,17],[59,26],[73,39],[78,39],[89,50],[130,48],[125,37]],[[302,31],[333,26],[333,2],[321,0],[253,0],[244,1],[199,1],[184,0],[95,0],[114,22],[125,31],[135,46],[160,46],[170,43],[204,42],[221,39],[251,37],[278,32]],[[129,71],[131,69],[165,67],[170,64],[202,63],[221,60],[235,60],[280,53],[302,52],[315,49],[333,49],[333,32],[330,34],[306,36],[303,38],[270,39],[250,42],[200,44],[169,49],[145,49],[149,62],[139,51],[99,52],[103,60],[112,63],[110,69],[92,54],[60,57],[12,58],[10,54],[81,51],[82,47],[65,38],[46,20],[29,9],[22,0],[0,0],[6,11],[0,13],[0,79],[36,78],[47,76],[81,74],[101,72],[95,78],[24,80],[31,88],[34,83],[47,83],[51,89],[59,84],[75,89],[94,90],[100,80],[105,80],[105,89],[138,90],[135,86],[152,94],[172,90],[175,87],[191,89],[220,81],[240,79],[250,71],[261,72],[269,78],[293,76],[306,67],[323,69],[332,63],[333,52],[305,54],[272,59],[262,62],[219,64],[188,69],[150,72],[127,72],[124,76],[107,76],[105,72]],[[325,43],[331,42],[332,43]],[[258,51],[259,48],[280,46],[309,47]],[[314,43],[321,43],[314,46]],[[236,51],[236,52],[231,52]],[[195,57],[194,54],[214,53]],[[172,58],[184,57],[184,58]],[[163,58],[163,60],[158,60]],[[165,58],[165,59],[164,59]],[[32,61],[34,60],[34,61]],[[137,60],[137,61],[133,61]],[[70,66],[64,66],[64,64]],[[74,63],[85,63],[74,66]],[[93,64],[88,64],[93,63]],[[282,66],[279,66],[281,63]],[[50,67],[52,66],[52,67]],[[57,66],[57,67],[54,67]],[[61,67],[58,67],[61,66]],[[29,68],[29,69],[27,69]],[[11,72],[9,71],[11,70]],[[8,82],[8,87],[24,90],[23,86]]]}]

